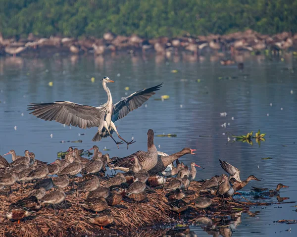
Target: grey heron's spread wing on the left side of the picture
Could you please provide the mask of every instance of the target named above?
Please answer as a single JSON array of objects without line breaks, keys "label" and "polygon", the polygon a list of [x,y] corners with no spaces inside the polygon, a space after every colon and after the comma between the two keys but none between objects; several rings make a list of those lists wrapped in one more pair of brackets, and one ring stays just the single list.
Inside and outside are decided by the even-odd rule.
[{"label": "grey heron's spread wing on the left side of the picture", "polygon": [[53,103],[30,103],[27,110],[30,114],[46,121],[55,120],[61,124],[80,128],[98,127],[104,119],[101,107],[82,105],[70,101],[55,101]]}]

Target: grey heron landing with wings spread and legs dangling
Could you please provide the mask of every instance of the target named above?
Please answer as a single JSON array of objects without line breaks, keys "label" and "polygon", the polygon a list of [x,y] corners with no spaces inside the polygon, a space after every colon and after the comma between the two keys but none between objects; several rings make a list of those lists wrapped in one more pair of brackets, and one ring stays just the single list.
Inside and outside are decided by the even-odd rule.
[{"label": "grey heron landing with wings spread and legs dangling", "polygon": [[[118,133],[114,122],[125,117],[130,111],[137,109],[146,102],[150,96],[158,91],[163,83],[135,92],[116,104],[112,103],[112,97],[106,83],[114,82],[108,77],[102,78],[102,86],[107,93],[107,102],[99,107],[82,105],[70,101],[55,101],[52,103],[30,103],[27,110],[33,110],[30,114],[46,121],[55,120],[68,126],[78,126],[80,128],[98,127],[98,131],[93,138],[93,142],[100,141],[102,138],[110,136],[119,148],[123,142],[128,145],[135,141],[127,142]],[[112,133],[116,132],[121,142],[116,142]]]}]

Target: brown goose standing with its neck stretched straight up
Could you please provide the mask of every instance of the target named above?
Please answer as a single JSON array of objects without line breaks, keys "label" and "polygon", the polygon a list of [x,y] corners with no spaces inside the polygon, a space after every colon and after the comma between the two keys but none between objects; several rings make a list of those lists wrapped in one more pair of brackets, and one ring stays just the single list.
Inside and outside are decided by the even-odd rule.
[{"label": "brown goose standing with its neck stretched straight up", "polygon": [[127,172],[127,168],[128,168],[128,171],[129,171],[130,167],[132,167],[134,164],[135,156],[137,156],[137,158],[139,159],[143,167],[143,170],[149,171],[150,169],[152,169],[157,164],[157,161],[158,161],[158,151],[153,143],[153,136],[154,136],[154,133],[152,129],[149,129],[148,130],[148,151],[137,151],[129,156],[119,158],[116,161],[112,161],[111,164],[114,165],[112,169],[123,170]]}]

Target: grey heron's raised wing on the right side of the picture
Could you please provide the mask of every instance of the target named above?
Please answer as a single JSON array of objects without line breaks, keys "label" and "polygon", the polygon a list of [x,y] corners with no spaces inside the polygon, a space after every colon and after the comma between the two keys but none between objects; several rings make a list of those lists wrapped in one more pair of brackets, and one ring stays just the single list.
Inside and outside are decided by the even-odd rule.
[{"label": "grey heron's raised wing on the right side of the picture", "polygon": [[158,91],[162,85],[163,83],[155,87],[134,92],[133,94],[114,104],[112,121],[115,122],[118,119],[125,117],[130,111],[142,106],[143,103],[146,102],[150,96],[154,95],[154,92]]}]

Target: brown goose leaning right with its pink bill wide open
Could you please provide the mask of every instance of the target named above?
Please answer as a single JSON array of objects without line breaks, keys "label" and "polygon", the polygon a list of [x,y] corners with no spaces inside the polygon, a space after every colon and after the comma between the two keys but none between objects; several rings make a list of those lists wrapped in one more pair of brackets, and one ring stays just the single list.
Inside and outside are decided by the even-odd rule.
[{"label": "brown goose leaning right with its pink bill wide open", "polygon": [[150,173],[158,173],[162,172],[166,169],[168,165],[170,165],[172,162],[174,162],[176,159],[179,159],[180,157],[186,155],[186,154],[194,154],[193,151],[196,149],[191,149],[191,148],[184,148],[181,151],[174,153],[172,155],[168,156],[163,156],[163,155],[158,155],[158,161],[157,164],[150,170]]}]

